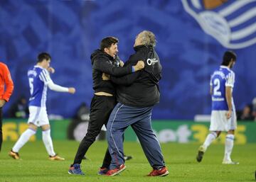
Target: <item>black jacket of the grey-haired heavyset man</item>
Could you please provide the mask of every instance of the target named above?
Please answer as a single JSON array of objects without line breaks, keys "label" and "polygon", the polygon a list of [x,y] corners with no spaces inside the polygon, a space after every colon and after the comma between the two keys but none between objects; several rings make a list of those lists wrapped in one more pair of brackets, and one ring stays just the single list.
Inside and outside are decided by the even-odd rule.
[{"label": "black jacket of the grey-haired heavyset man", "polygon": [[117,101],[126,106],[137,108],[154,106],[159,103],[159,80],[161,79],[161,64],[154,47],[139,45],[134,47],[136,53],[129,57],[124,67],[143,60],[145,68],[139,72],[126,76],[111,76],[111,80],[118,84]]}]

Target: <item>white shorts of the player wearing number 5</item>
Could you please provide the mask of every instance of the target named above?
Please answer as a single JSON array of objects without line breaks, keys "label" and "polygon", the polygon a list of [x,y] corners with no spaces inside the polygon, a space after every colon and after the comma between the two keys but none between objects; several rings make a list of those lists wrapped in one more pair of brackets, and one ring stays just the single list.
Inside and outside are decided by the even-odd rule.
[{"label": "white shorts of the player wearing number 5", "polygon": [[45,107],[41,108],[37,106],[29,106],[28,109],[28,123],[33,123],[38,127],[41,127],[43,125],[49,125],[49,119]]}]

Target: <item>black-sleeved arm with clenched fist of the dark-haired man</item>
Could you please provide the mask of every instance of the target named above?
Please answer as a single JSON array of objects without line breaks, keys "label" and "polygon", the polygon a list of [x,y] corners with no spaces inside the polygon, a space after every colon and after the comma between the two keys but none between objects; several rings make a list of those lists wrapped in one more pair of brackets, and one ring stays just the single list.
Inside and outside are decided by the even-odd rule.
[{"label": "black-sleeved arm with clenched fist of the dark-haired man", "polygon": [[129,67],[114,67],[110,62],[106,62],[105,59],[95,59],[93,62],[93,69],[97,69],[105,74],[112,76],[124,76],[132,72],[137,72],[144,68],[144,62],[139,61],[135,66]]}]

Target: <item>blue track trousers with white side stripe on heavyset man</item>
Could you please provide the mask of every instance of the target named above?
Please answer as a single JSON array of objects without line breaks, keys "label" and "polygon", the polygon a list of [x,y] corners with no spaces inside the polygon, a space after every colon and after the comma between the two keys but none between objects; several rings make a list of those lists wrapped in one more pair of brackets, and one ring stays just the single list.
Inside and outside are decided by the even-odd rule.
[{"label": "blue track trousers with white side stripe on heavyset man", "polygon": [[136,133],[149,164],[154,169],[165,166],[159,141],[151,126],[152,108],[134,108],[122,103],[114,107],[107,123],[107,142],[112,157],[110,169],[124,164],[123,135],[129,125]]}]

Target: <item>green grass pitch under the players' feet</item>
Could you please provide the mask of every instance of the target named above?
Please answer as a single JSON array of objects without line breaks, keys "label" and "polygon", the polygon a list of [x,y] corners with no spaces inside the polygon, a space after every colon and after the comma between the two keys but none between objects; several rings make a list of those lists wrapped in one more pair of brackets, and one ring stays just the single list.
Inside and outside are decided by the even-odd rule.
[{"label": "green grass pitch under the players' feet", "polygon": [[41,141],[28,142],[19,152],[22,159],[14,160],[8,156],[14,142],[4,142],[0,153],[0,181],[255,181],[256,144],[235,145],[232,156],[234,161],[240,162],[239,165],[221,164],[224,152],[224,146],[221,144],[212,144],[200,164],[196,161],[199,144],[161,144],[170,172],[166,177],[146,176],[151,171],[151,166],[136,142],[124,142],[125,154],[134,158],[126,162],[127,169],[122,174],[112,177],[97,175],[107,147],[106,142],[95,142],[87,152],[89,160],[82,161],[85,176],[68,174],[68,167],[73,162],[79,143],[53,141],[53,144],[55,151],[65,157],[65,161],[49,161]]}]

